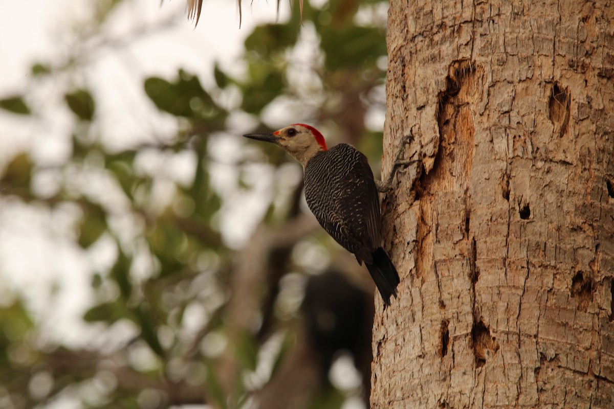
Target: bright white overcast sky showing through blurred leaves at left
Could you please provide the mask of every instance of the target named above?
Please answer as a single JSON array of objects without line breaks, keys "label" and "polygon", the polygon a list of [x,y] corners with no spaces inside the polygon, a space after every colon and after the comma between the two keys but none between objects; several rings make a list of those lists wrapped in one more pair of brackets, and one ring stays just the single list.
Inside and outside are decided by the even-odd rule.
[{"label": "bright white overcast sky showing through blurred leaves at left", "polygon": [[[90,0],[0,1],[0,98],[21,94],[31,84],[30,67],[37,62],[60,64],[76,44],[74,26],[88,21]],[[185,18],[185,0],[126,0],[115,10],[104,31],[112,39],[123,39],[134,28],[173,21],[169,28],[96,52],[80,78],[95,94],[96,109],[102,114],[98,127],[111,145],[126,139],[151,137],[152,132],[173,135],[176,121],[158,115],[144,95],[143,78],[158,75],[172,79],[177,69],[198,74],[203,83],[212,82],[214,61],[230,72],[243,52],[243,41],[263,21],[276,20],[274,2],[244,2],[243,26],[238,26],[235,1],[204,2],[198,27]],[[289,10],[281,7],[281,18]],[[79,75],[77,75],[79,77]],[[60,77],[58,81],[69,77]],[[0,112],[0,169],[15,151],[31,152],[38,164],[53,164],[70,155],[67,138],[72,121],[53,84],[27,93],[36,115],[21,117]],[[61,89],[66,87],[58,85]],[[45,98],[55,95],[56,99]],[[37,109],[44,106],[44,109]],[[43,111],[43,112],[40,112]],[[102,119],[102,122],[99,119]],[[228,138],[236,142],[239,138]],[[233,142],[234,141],[234,142]],[[45,182],[35,181],[35,185]],[[244,203],[245,205],[245,203]],[[84,341],[80,316],[91,305],[91,275],[112,260],[111,243],[97,243],[86,254],[70,237],[74,209],[45,210],[21,205],[0,196],[0,302],[10,302],[8,294],[23,294],[29,307],[52,338],[68,344]],[[78,216],[77,216],[78,217]],[[111,256],[109,254],[111,253]],[[58,285],[53,296],[52,289]]]}]

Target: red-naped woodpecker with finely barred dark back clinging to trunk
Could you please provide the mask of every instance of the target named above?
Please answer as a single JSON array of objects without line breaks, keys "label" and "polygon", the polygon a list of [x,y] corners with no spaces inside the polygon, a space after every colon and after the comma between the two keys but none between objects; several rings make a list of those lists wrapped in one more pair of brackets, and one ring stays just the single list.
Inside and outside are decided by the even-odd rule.
[{"label": "red-naped woodpecker with finely barred dark back clinging to trunk", "polygon": [[275,143],[301,163],[309,209],[337,243],[361,266],[365,263],[384,303],[390,305],[400,280],[381,248],[378,186],[367,157],[347,143],[328,149],[316,128],[300,123],[244,137]]}]

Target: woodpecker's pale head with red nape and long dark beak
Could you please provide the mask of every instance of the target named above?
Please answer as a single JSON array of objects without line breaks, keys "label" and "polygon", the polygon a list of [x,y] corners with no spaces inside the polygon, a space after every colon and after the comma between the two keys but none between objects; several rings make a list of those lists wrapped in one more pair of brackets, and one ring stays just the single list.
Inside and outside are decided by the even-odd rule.
[{"label": "woodpecker's pale head with red nape and long dark beak", "polygon": [[272,133],[246,134],[246,138],[273,142],[305,167],[319,151],[327,150],[324,136],[313,126],[295,123]]}]

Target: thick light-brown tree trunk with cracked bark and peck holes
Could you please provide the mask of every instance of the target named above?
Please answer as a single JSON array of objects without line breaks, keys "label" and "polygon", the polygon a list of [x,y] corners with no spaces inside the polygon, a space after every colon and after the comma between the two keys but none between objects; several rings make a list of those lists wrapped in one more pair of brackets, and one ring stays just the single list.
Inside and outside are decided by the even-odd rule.
[{"label": "thick light-brown tree trunk with cracked bark and peck holes", "polygon": [[373,409],[614,407],[614,4],[513,3],[391,1]]}]

